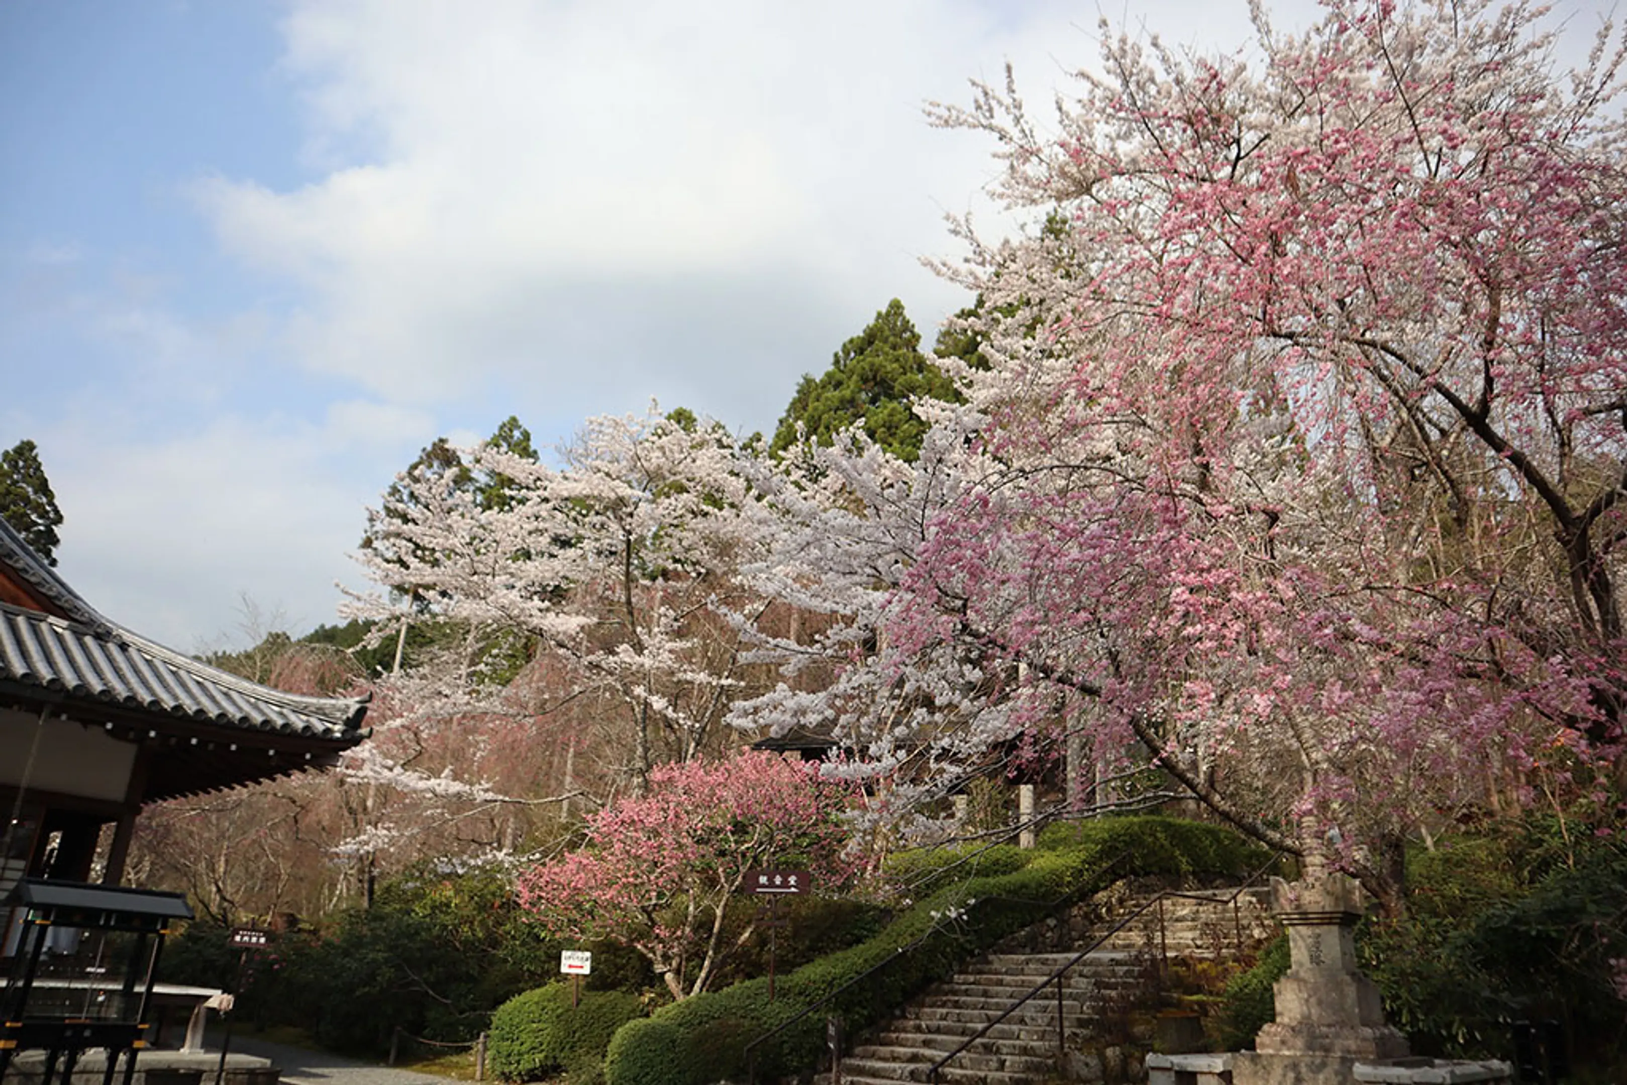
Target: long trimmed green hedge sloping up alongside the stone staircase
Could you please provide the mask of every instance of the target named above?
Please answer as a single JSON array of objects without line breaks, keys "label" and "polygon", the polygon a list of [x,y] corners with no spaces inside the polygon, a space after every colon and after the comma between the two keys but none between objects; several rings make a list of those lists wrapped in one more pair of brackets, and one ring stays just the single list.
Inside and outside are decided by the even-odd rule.
[{"label": "long trimmed green hedge sloping up alongside the stone staircase", "polygon": [[[924,875],[955,859],[936,854],[936,861],[911,859],[903,865]],[[1064,895],[1084,896],[1131,875],[1237,875],[1266,861],[1263,849],[1227,830],[1158,817],[1051,826],[1040,848],[1017,856],[1025,865],[949,882],[905,909],[877,937],[781,978],[774,1002],[768,1000],[766,979],[750,979],[630,1022],[610,1041],[608,1085],[704,1085],[735,1077],[745,1070],[748,1041],[896,958],[758,1048],[760,1077],[796,1074],[818,1059],[828,1013],[840,1013],[849,1030],[885,1020],[908,999],[953,974],[962,961],[1043,919]],[[978,867],[999,869],[1009,862],[1001,854]],[[908,953],[901,952],[918,940]]]}]

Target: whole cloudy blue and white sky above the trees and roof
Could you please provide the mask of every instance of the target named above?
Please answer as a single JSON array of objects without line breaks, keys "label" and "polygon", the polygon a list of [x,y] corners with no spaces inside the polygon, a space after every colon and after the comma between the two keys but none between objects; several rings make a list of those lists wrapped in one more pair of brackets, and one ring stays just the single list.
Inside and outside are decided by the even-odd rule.
[{"label": "whole cloudy blue and white sky above the trees and roof", "polygon": [[[1306,0],[1277,21],[1308,21]],[[1565,3],[1591,31],[1596,8]],[[39,444],[60,569],[184,651],[293,633],[394,473],[508,415],[539,446],[651,397],[768,429],[893,296],[931,342],[926,125],[1095,57],[1051,0],[5,0],[0,447]],[[1108,15],[1232,49],[1243,0]]]}]

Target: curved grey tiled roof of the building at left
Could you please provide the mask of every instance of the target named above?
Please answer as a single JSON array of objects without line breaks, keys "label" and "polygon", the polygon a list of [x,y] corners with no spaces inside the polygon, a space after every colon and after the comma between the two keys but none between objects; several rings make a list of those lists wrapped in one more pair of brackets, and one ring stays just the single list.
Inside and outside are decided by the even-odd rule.
[{"label": "curved grey tiled roof of the building at left", "polygon": [[308,739],[361,739],[366,698],[270,690],[104,618],[0,521],[0,564],[67,618],[0,604],[0,683],[140,712]]}]

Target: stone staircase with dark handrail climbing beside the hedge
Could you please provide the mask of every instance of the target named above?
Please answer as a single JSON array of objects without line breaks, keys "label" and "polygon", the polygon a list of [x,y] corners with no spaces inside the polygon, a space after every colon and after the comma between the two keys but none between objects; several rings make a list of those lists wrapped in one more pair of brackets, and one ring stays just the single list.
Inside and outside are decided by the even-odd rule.
[{"label": "stone staircase with dark handrail climbing beside the hedge", "polygon": [[[1232,890],[1214,890],[1224,900]],[[1124,916],[1154,895],[1129,896],[1113,916]],[[1165,900],[1069,970],[1061,1002],[1067,1025],[1069,1065],[1058,1064],[1058,996],[1051,987],[996,1025],[984,1038],[939,1072],[945,1085],[1033,1085],[1058,1075],[1100,1078],[1101,1065],[1077,1048],[1077,1038],[1100,1031],[1157,991],[1165,958],[1214,958],[1258,943],[1271,934],[1264,891],[1250,891],[1230,904]],[[1110,916],[1098,929],[1113,922]],[[1090,939],[1093,940],[1093,939]],[[1088,943],[1088,942],[1085,942]],[[970,961],[950,981],[937,984],[905,1007],[883,1031],[854,1048],[841,1062],[843,1085],[926,1082],[932,1064],[999,1017],[1017,999],[1074,958],[1074,953],[997,952]],[[815,1078],[828,1085],[830,1074]]]}]

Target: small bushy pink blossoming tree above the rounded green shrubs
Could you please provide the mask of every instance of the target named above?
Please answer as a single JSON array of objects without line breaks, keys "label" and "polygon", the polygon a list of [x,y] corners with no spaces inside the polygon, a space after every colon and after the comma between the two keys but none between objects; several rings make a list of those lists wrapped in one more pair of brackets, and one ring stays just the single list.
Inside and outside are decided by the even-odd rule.
[{"label": "small bushy pink blossoming tree above the rounded green shrubs", "polygon": [[817,765],[773,753],[665,765],[646,794],[591,815],[582,848],[521,875],[521,903],[555,935],[638,950],[683,999],[755,932],[748,921],[724,937],[747,870],[809,870],[820,890],[844,882],[846,799]]}]

